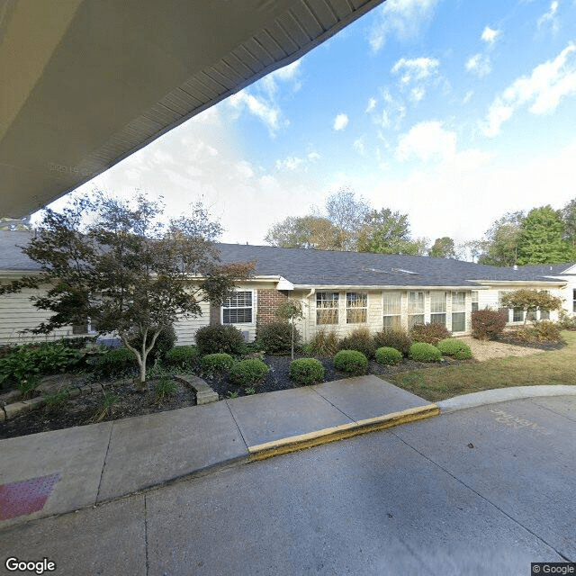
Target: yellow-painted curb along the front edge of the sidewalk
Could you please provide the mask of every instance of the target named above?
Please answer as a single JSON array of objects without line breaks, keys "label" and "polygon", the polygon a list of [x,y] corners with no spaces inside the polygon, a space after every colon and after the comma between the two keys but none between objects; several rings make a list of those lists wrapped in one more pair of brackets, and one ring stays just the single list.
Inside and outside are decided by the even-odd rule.
[{"label": "yellow-painted curb along the front edge of the sidewalk", "polygon": [[427,404],[426,406],[410,408],[409,410],[402,410],[401,412],[392,412],[391,414],[384,414],[383,416],[377,416],[375,418],[340,424],[332,428],[323,428],[322,430],[308,434],[282,438],[280,440],[274,440],[273,442],[258,444],[257,446],[248,446],[248,462],[265,460],[272,456],[288,454],[290,452],[296,452],[297,450],[311,448],[312,446],[320,446],[322,444],[328,444],[329,442],[355,437],[360,434],[392,428],[392,426],[399,426],[400,424],[433,418],[439,413],[440,409],[437,404]]}]

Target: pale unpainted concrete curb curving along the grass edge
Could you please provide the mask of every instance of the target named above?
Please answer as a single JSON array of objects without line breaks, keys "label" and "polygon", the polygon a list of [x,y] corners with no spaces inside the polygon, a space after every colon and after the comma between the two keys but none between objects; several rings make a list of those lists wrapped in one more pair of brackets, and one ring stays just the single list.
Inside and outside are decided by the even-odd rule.
[{"label": "pale unpainted concrete curb curving along the grass edge", "polygon": [[449,414],[457,410],[476,408],[484,404],[497,404],[510,400],[523,398],[539,398],[542,396],[566,396],[576,395],[576,384],[556,384],[548,386],[514,386],[498,390],[484,390],[473,394],[455,396],[445,401],[437,402],[438,408],[443,414]]}]

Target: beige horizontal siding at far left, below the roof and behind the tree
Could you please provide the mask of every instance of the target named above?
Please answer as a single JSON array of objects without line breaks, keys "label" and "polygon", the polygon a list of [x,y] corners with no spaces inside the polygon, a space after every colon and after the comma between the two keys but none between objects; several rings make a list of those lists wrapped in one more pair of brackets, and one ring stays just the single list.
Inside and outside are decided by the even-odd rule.
[{"label": "beige horizontal siding at far left, below the roof and behind the tree", "polygon": [[72,337],[72,327],[58,329],[49,335],[23,333],[24,329],[36,328],[49,319],[51,314],[32,305],[31,296],[40,291],[24,289],[21,293],[0,296],[0,344],[21,344],[31,341],[57,340]]}]

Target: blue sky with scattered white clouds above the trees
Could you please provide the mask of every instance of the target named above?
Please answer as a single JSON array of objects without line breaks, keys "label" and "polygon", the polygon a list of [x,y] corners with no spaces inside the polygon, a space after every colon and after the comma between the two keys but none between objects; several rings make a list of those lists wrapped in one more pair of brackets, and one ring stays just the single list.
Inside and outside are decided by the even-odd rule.
[{"label": "blue sky with scattered white clouds above the trees", "polygon": [[387,0],[78,191],[202,200],[221,241],[263,245],[347,186],[464,242],[575,181],[576,0]]}]

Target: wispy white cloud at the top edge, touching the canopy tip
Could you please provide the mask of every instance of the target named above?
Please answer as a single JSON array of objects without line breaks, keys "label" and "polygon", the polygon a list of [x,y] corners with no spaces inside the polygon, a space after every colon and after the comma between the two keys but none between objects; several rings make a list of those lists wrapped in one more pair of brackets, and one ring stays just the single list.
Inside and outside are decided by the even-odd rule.
[{"label": "wispy white cloud at the top edge, touching the canopy tip", "polygon": [[369,31],[373,52],[383,48],[389,37],[406,40],[418,35],[420,27],[432,18],[439,0],[387,0],[376,14]]}]

